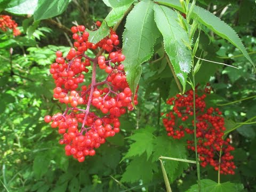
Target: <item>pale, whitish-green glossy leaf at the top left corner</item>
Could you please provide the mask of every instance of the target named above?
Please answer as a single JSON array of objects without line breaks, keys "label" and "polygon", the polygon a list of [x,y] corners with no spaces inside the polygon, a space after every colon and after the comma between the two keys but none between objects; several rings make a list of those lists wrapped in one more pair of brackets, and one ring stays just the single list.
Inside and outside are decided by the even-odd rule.
[{"label": "pale, whitish-green glossy leaf at the top left corner", "polygon": [[34,14],[38,0],[12,0],[5,11],[13,14]]}]

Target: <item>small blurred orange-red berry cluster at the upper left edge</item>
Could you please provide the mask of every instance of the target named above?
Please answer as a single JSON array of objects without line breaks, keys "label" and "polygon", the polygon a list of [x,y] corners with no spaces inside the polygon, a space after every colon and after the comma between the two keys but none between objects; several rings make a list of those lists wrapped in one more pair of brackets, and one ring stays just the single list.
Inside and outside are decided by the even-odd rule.
[{"label": "small blurred orange-red berry cluster at the upper left edge", "polygon": [[0,15],[0,29],[7,31],[7,29],[12,29],[14,36],[20,35],[20,30],[17,29],[18,24],[12,20],[12,17],[9,15]]}]

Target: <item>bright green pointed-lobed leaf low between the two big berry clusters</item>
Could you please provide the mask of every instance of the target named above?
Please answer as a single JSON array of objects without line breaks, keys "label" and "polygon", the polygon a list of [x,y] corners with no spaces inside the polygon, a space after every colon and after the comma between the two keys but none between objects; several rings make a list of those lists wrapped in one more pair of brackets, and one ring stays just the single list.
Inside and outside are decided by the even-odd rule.
[{"label": "bright green pointed-lobed leaf low between the two big berry clusters", "polygon": [[122,161],[125,158],[142,155],[145,151],[147,153],[147,161],[150,155],[153,152],[153,135],[154,129],[152,127],[146,127],[146,129],[140,129],[132,136],[128,137],[135,142],[130,145],[128,153],[123,157]]}]

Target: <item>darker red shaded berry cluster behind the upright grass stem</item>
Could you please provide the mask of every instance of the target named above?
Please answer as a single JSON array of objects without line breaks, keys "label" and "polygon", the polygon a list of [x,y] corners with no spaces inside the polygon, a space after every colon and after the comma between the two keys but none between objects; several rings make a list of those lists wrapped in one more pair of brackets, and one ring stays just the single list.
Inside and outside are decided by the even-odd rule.
[{"label": "darker red shaded berry cluster behind the upright grass stem", "polygon": [[[204,91],[210,93],[211,87],[207,85]],[[205,98],[206,94],[201,97],[195,94],[197,153],[201,166],[210,164],[221,174],[235,174],[234,157],[230,154],[234,147],[229,145],[230,139],[223,139],[226,130],[224,118],[218,108],[206,109]],[[172,111],[163,118],[167,135],[180,139],[185,137],[185,133],[194,134],[193,90],[183,95],[177,94],[166,103],[172,106]],[[188,140],[187,143],[188,149],[195,151],[194,141]]]}]

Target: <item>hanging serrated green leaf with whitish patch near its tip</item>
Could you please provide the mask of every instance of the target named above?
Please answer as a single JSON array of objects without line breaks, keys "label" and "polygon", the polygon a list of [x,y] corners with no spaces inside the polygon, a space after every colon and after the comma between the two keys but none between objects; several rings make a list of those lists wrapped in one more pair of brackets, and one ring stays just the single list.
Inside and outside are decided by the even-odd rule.
[{"label": "hanging serrated green leaf with whitish patch near its tip", "polygon": [[[186,89],[187,74],[191,67],[191,51],[183,42],[189,42],[186,31],[177,21],[177,13],[165,6],[155,4],[155,21],[164,38],[164,48],[170,58],[183,92]],[[171,75],[171,74],[170,74]]]}]

